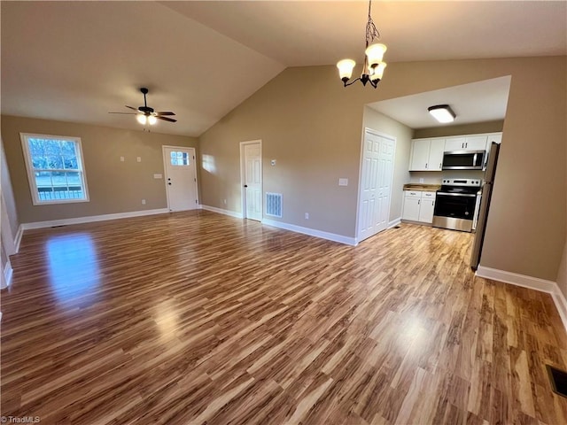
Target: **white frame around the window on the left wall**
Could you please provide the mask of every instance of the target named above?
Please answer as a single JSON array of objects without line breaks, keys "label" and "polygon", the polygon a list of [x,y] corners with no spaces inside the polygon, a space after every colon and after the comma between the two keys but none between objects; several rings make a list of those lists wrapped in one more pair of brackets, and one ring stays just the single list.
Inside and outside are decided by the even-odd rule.
[{"label": "white frame around the window on the left wall", "polygon": [[[39,138],[39,139],[53,139],[62,140],[66,142],[75,143],[76,153],[77,153],[77,171],[81,175],[82,181],[82,191],[84,193],[84,199],[69,198],[69,199],[50,199],[43,201],[39,198],[39,189],[37,188],[37,183],[35,182],[35,168],[32,162],[32,155],[29,151],[29,139]],[[24,153],[24,162],[26,163],[27,172],[27,184],[29,186],[29,191],[32,196],[32,203],[34,205],[53,205],[53,204],[76,204],[80,202],[89,202],[89,186],[87,185],[87,172],[84,165],[84,157],[82,154],[82,141],[81,137],[74,137],[69,135],[41,135],[36,133],[19,133],[19,139],[21,141],[22,151]],[[45,171],[50,171],[45,169]],[[57,170],[53,170],[57,171]]]}]

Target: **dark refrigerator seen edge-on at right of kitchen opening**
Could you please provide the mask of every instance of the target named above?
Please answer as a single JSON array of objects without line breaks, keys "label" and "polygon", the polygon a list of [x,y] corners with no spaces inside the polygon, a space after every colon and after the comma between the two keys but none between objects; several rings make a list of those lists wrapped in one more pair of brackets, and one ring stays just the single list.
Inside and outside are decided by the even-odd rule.
[{"label": "dark refrigerator seen edge-on at right of kitchen opening", "polygon": [[494,174],[496,174],[496,164],[498,163],[499,151],[500,144],[493,142],[490,146],[490,153],[488,154],[485,182],[482,185],[482,195],[480,196],[477,233],[475,235],[474,243],[472,244],[472,253],[470,255],[470,267],[473,270],[476,270],[478,263],[480,263],[482,245],[485,241],[486,218],[490,208],[490,199],[493,196]]}]

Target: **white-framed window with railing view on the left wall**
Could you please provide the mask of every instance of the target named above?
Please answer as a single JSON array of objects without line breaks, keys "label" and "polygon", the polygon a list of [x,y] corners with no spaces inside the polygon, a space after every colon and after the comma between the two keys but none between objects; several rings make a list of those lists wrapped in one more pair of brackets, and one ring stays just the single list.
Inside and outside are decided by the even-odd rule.
[{"label": "white-framed window with railing view on the left wall", "polygon": [[81,139],[20,133],[34,205],[89,201]]}]

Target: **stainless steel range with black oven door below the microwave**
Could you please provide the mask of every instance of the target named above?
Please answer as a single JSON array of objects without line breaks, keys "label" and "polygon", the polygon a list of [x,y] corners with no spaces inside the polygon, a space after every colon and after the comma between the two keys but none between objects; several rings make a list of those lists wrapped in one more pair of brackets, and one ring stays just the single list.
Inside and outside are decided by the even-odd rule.
[{"label": "stainless steel range with black oven door below the microwave", "polygon": [[471,232],[478,214],[480,184],[478,179],[444,179],[435,198],[433,226]]}]

